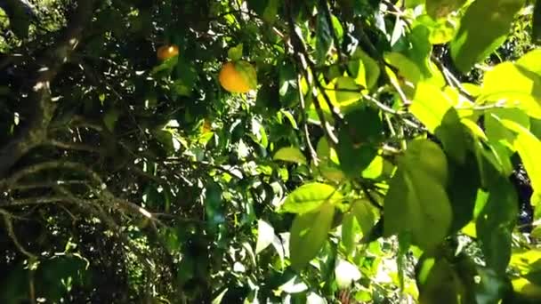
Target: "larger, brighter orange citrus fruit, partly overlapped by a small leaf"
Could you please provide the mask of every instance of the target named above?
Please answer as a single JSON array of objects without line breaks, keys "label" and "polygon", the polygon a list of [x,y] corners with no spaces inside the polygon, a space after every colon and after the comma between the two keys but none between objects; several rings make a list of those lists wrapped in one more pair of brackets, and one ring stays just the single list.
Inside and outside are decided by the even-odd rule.
[{"label": "larger, brighter orange citrus fruit, partly overlapped by a small leaf", "polygon": [[222,65],[218,80],[228,92],[245,93],[255,89],[257,75],[254,67],[247,61],[229,61]]}]

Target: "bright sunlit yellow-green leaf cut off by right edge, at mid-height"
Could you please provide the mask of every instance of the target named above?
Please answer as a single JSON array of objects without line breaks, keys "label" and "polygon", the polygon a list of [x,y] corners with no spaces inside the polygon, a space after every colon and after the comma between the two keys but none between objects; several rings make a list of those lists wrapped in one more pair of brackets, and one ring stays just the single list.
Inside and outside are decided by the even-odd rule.
[{"label": "bright sunlit yellow-green leaf cut off by right edge, at mid-height", "polygon": [[541,151],[541,140],[538,140],[521,124],[507,119],[503,119],[501,123],[509,130],[517,133],[513,145],[519,152],[519,156],[521,156],[522,164],[524,164],[524,168],[528,172],[531,187],[534,189],[531,203],[537,205],[541,203],[541,163],[538,161],[537,154]]}]

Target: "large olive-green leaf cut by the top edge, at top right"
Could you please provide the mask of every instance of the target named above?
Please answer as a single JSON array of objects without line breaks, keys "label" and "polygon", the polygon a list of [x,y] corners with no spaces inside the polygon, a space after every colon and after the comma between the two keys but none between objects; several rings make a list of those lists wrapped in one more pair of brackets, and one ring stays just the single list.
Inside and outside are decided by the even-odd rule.
[{"label": "large olive-green leaf cut by the top edge, at top right", "polygon": [[515,13],[524,3],[525,0],[474,1],[462,17],[458,33],[450,44],[456,68],[464,73],[469,71],[503,44]]}]

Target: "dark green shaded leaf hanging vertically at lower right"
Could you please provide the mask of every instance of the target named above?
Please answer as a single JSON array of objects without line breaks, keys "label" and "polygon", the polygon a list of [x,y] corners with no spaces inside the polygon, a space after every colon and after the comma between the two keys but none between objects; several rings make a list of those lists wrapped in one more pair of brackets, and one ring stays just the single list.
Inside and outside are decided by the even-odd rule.
[{"label": "dark green shaded leaf hanging vertically at lower right", "polygon": [[501,177],[489,189],[489,200],[476,220],[477,236],[487,266],[504,274],[511,258],[512,233],[518,211],[516,191]]}]

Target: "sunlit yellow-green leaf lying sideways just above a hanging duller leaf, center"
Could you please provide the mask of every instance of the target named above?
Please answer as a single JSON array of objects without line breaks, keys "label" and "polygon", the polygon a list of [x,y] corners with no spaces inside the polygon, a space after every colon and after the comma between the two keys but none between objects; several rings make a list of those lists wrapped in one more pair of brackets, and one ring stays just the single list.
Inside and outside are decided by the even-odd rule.
[{"label": "sunlit yellow-green leaf lying sideways just above a hanging duller leaf, center", "polygon": [[311,182],[291,192],[281,205],[280,211],[302,214],[312,212],[325,203],[341,203],[342,199],[342,194],[336,188],[319,182]]}]

